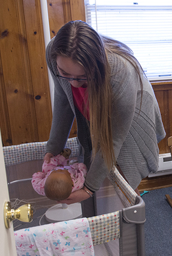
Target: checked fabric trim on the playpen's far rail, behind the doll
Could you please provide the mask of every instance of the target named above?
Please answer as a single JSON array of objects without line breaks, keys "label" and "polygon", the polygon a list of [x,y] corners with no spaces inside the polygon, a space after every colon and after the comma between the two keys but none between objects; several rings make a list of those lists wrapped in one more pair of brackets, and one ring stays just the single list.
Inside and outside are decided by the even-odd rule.
[{"label": "checked fabric trim on the playpen's far rail, behind the doll", "polygon": [[[45,155],[47,142],[43,143],[25,143],[3,147],[3,156],[5,165],[17,165],[33,160],[41,160]],[[72,150],[71,156],[78,156],[78,140],[77,138],[69,138],[65,147]]]}]

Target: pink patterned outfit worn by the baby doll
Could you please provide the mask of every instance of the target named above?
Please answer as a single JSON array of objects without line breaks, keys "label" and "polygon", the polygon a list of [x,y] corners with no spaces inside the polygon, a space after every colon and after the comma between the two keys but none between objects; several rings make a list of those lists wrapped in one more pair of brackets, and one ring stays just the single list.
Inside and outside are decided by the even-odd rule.
[{"label": "pink patterned outfit worn by the baby doll", "polygon": [[68,166],[67,164],[69,164],[69,159],[61,156],[61,154],[50,158],[50,163],[45,163],[44,161],[42,172],[36,172],[32,175],[32,187],[34,190],[38,194],[45,196],[44,185],[47,180],[47,176],[49,176],[53,170],[63,170],[64,168],[69,172],[72,181],[74,182],[72,192],[83,188],[85,176],[87,175],[86,165],[83,163],[74,163]]}]

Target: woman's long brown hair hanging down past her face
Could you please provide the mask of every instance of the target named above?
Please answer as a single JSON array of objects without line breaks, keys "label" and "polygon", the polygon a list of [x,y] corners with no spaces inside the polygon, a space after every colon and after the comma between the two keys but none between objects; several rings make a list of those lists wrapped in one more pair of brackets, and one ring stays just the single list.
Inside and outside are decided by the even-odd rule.
[{"label": "woman's long brown hair hanging down past her face", "polygon": [[100,150],[107,168],[116,164],[111,127],[112,89],[107,52],[122,55],[135,66],[138,64],[131,50],[118,41],[98,35],[84,21],[69,21],[57,33],[52,47],[52,58],[70,57],[85,68],[89,100],[92,158]]}]

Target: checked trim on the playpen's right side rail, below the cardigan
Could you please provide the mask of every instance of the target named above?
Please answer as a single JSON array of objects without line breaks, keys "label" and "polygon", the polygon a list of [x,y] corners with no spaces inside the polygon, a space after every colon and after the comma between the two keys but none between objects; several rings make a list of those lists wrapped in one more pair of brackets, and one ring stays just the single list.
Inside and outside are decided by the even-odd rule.
[{"label": "checked trim on the playpen's right side rail, below the cardigan", "polygon": [[116,167],[109,173],[109,180],[113,183],[116,190],[121,190],[130,205],[136,204],[136,192],[131,188],[129,183],[120,175]]}]

